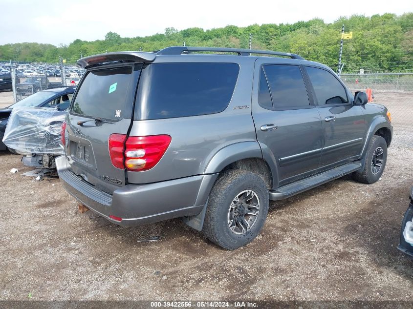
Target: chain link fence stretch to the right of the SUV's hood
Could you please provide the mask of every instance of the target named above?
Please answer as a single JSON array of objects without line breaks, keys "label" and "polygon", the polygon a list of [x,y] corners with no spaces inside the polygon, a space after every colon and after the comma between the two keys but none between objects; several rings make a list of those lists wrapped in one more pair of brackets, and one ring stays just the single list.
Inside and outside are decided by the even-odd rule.
[{"label": "chain link fence stretch to the right of the SUV's hood", "polygon": [[385,105],[391,112],[392,145],[413,148],[413,73],[341,74],[352,92],[372,89],[372,103]]}]

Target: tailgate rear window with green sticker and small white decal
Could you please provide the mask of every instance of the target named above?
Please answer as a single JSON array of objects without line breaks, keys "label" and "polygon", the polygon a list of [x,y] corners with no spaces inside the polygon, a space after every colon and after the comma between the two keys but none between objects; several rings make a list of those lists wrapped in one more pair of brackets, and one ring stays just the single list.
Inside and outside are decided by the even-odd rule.
[{"label": "tailgate rear window with green sticker and small white decal", "polygon": [[[130,118],[134,94],[133,68],[131,66],[107,68],[87,73],[71,106],[71,112],[79,115],[110,120]],[[131,91],[129,91],[131,90]],[[129,112],[128,112],[129,111]]]}]

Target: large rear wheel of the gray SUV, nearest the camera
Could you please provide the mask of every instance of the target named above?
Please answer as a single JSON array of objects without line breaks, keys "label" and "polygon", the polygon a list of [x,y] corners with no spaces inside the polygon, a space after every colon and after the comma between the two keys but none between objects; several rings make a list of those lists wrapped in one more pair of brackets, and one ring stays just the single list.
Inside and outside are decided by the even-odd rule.
[{"label": "large rear wheel of the gray SUV, nearest the camera", "polygon": [[[237,197],[239,201],[235,203]],[[260,176],[245,170],[227,170],[219,175],[211,190],[202,232],[219,247],[237,249],[253,241],[260,233],[268,207],[268,189]],[[246,228],[241,230],[241,227]]]}]

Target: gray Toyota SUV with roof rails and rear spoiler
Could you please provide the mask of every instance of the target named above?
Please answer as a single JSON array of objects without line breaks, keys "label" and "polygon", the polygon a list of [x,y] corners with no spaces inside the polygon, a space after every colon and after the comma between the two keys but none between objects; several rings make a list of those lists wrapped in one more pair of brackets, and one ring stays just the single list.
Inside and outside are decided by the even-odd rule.
[{"label": "gray Toyota SUV with roof rails and rear spoiler", "polygon": [[87,72],[56,165],[66,190],[115,224],[182,217],[236,249],[258,235],[270,200],[383,173],[387,108],[298,55],[174,46],[77,63]]}]

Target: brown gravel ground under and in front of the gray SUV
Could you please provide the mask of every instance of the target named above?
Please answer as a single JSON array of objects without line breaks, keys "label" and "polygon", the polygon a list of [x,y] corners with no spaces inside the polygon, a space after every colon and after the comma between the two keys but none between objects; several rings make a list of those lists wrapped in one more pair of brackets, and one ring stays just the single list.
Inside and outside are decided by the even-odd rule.
[{"label": "brown gravel ground under and in front of the gray SUV", "polygon": [[391,147],[376,184],[346,176],[272,203],[259,237],[225,251],[179,219],[81,214],[58,179],[33,182],[0,152],[0,300],[413,300],[413,261],[396,249],[412,158]]}]

